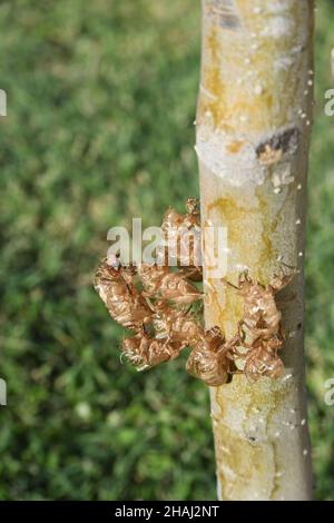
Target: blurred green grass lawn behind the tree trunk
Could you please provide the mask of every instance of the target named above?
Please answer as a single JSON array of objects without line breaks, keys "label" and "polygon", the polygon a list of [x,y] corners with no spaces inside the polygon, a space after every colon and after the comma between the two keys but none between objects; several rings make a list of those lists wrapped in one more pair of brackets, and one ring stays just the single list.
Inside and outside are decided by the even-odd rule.
[{"label": "blurred green grass lawn behind the tree trunk", "polygon": [[[334,500],[334,2],[321,0],[310,174],[307,385],[316,495]],[[208,394],[137,374],[91,287],[112,225],[198,194],[194,0],[0,4],[1,500],[213,500]]]}]

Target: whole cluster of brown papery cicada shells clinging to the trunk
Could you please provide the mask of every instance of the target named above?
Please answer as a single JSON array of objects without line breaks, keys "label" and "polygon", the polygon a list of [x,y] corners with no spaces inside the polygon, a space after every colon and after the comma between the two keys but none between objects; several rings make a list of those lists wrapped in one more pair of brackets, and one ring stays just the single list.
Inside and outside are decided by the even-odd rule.
[{"label": "whole cluster of brown papery cicada shells clinging to the trunk", "polygon": [[[95,288],[110,316],[132,332],[122,342],[122,355],[144,371],[175,359],[190,347],[186,369],[209,386],[223,385],[236,373],[244,373],[249,381],[279,377],[284,366],[278,352],[285,336],[275,295],[293,275],[282,272],[267,286],[248,273],[239,275],[237,285],[226,282],[244,300],[237,332],[227,339],[218,326],[205,329],[202,267],[195,256],[200,248],[198,201],[188,199],[186,208],[185,215],[168,209],[163,223],[163,230],[178,246],[175,267],[168,265],[168,245],[161,244],[158,249],[166,255],[163,265],[122,266],[118,258],[106,258],[96,273]],[[185,231],[190,229],[199,230],[199,236],[187,244],[185,265],[180,253]]]}]

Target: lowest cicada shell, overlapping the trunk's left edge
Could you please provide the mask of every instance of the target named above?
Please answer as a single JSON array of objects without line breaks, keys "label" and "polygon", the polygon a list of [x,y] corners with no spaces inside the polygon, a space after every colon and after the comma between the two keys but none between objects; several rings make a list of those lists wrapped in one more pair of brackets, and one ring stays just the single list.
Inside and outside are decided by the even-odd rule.
[{"label": "lowest cicada shell, overlapping the trunk's left edge", "polygon": [[210,387],[224,385],[235,371],[233,353],[238,342],[238,336],[226,342],[219,327],[203,332],[188,357],[187,372]]}]

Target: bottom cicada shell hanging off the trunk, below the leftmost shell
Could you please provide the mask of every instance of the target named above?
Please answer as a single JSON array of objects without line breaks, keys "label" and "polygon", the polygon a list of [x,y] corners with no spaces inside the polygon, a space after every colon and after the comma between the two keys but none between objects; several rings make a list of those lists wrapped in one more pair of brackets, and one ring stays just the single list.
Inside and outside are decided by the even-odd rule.
[{"label": "bottom cicada shell hanging off the trunk, below the leftmost shell", "polygon": [[137,371],[145,371],[169,359],[175,359],[179,356],[180,349],[180,344],[169,343],[168,339],[150,338],[145,333],[125,338],[122,342],[122,354]]}]

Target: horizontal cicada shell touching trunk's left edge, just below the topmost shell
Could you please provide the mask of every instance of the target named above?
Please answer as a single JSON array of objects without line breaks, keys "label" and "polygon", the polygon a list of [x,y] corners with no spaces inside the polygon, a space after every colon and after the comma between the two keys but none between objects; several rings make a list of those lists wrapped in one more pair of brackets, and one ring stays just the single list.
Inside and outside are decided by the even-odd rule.
[{"label": "horizontal cicada shell touching trunk's left edge, just below the topmost shell", "polygon": [[169,267],[141,264],[138,274],[144,285],[144,296],[149,298],[163,297],[177,305],[190,305],[202,297],[202,293],[184,274],[170,273]]}]

